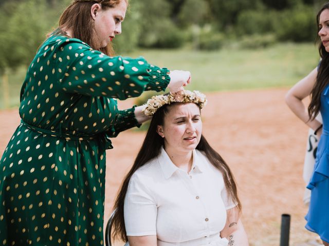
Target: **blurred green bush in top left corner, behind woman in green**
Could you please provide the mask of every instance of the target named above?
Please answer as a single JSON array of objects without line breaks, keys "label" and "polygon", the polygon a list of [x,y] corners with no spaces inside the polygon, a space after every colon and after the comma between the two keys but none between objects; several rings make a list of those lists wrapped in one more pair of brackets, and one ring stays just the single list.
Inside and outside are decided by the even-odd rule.
[{"label": "blurred green bush in top left corner, behind woman in green", "polygon": [[[0,16],[0,67],[15,69],[28,65],[53,25],[53,15],[42,0],[6,2]],[[0,20],[1,20],[0,18]]]}]

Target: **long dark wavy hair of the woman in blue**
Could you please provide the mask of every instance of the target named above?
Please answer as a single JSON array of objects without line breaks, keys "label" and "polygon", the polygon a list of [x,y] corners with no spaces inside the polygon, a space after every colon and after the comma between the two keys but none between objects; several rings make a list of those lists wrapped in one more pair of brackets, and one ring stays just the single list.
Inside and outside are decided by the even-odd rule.
[{"label": "long dark wavy hair of the woman in blue", "polygon": [[[318,32],[320,31],[320,14],[325,9],[329,9],[329,3],[324,4],[317,14]],[[319,42],[319,40],[320,38],[318,35],[317,41]],[[325,47],[323,46],[322,42],[319,43],[319,53],[321,56],[321,63],[318,67],[316,83],[310,93],[310,103],[307,109],[309,119],[314,119],[319,113],[321,106],[321,93],[323,92],[324,88],[329,84],[329,53],[325,50]]]}]

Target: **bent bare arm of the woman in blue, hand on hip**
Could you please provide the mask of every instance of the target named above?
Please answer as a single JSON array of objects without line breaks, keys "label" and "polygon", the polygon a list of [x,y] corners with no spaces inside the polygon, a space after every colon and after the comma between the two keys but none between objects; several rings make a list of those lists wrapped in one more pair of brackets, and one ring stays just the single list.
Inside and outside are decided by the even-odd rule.
[{"label": "bent bare arm of the woman in blue, hand on hip", "polygon": [[318,74],[318,68],[315,68],[306,77],[301,79],[293,88],[291,88],[285,97],[286,104],[293,111],[298,118],[300,118],[307,126],[313,130],[317,129],[321,123],[314,119],[309,120],[307,110],[302,100],[310,95]]}]

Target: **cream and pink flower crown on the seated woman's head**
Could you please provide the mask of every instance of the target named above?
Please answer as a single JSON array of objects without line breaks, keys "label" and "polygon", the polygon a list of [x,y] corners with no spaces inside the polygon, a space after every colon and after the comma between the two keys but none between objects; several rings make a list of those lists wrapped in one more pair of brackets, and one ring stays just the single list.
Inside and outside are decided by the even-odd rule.
[{"label": "cream and pink flower crown on the seated woman's head", "polygon": [[200,109],[207,104],[205,94],[199,91],[178,91],[176,93],[167,93],[163,95],[152,96],[146,103],[146,107],[143,109],[143,113],[147,116],[152,116],[163,105],[171,103],[195,103]]}]

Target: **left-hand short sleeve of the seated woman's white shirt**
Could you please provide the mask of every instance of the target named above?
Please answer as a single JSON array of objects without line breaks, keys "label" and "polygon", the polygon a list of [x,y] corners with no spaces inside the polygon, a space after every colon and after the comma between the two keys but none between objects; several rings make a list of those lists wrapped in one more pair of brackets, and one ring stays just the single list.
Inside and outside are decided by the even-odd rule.
[{"label": "left-hand short sleeve of the seated woman's white shirt", "polygon": [[156,235],[156,218],[156,203],[141,178],[134,174],[124,200],[126,235]]}]

